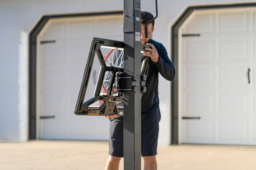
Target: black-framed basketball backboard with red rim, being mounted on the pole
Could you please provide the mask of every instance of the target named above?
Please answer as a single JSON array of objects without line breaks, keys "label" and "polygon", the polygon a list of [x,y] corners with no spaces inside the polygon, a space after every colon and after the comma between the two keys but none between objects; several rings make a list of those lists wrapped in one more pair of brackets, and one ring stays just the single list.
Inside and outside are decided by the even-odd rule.
[{"label": "black-framed basketball backboard with red rim, being mounted on the pole", "polygon": [[[81,83],[79,97],[76,103],[75,114],[77,115],[97,115],[109,116],[117,114],[123,116],[122,102],[124,91],[145,92],[145,79],[148,73],[149,57],[141,57],[141,76],[144,86],[142,89],[124,88],[122,84],[124,79],[132,81],[134,77],[123,77],[124,73],[124,43],[121,41],[93,38],[90,51],[87,58],[87,64],[84,71],[84,77]],[[151,48],[149,45],[141,45],[141,51],[147,51],[145,48]],[[105,57],[103,57],[105,56]],[[94,65],[95,63],[98,63]],[[93,74],[96,83],[94,94],[87,91],[88,83],[91,82],[91,72],[99,66],[98,79],[96,72]],[[143,76],[142,76],[143,75]],[[135,76],[137,77],[137,76]],[[92,84],[92,83],[89,83]]]}]

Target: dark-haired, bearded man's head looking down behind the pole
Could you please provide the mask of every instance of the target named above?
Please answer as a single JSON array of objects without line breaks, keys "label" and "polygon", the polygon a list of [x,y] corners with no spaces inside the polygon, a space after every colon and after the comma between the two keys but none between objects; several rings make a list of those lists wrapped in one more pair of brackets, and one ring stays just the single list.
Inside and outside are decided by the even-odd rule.
[{"label": "dark-haired, bearded man's head looking down behind the pole", "polygon": [[154,16],[150,12],[141,11],[140,20],[141,20],[141,37],[140,43],[146,44],[149,42],[152,32],[154,31],[154,20],[148,23],[148,38],[145,38],[145,24],[152,20]]}]

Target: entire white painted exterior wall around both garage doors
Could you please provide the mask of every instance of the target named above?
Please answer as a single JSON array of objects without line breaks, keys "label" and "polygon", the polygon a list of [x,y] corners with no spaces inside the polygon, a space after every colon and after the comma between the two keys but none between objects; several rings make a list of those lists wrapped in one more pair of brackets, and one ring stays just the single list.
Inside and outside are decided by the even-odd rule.
[{"label": "entire white painted exterior wall around both garage doors", "polygon": [[[154,0],[152,0],[153,2]],[[155,7],[141,0],[141,10],[155,14]],[[248,0],[158,0],[154,40],[165,45],[169,56],[170,26],[188,6],[227,3],[253,3]],[[45,14],[116,11],[122,0],[1,0],[0,1],[0,140],[28,139],[28,35]],[[170,144],[170,85],[161,76],[159,96],[162,119],[159,144]]]}]

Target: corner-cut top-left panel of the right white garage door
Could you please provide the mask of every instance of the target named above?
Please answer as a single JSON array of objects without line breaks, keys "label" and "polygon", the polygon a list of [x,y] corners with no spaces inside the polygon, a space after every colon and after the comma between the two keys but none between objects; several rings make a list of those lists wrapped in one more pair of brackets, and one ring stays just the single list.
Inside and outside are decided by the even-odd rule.
[{"label": "corner-cut top-left panel of the right white garage door", "polygon": [[187,23],[186,33],[198,34],[199,32],[212,32],[213,14],[195,14],[195,17]]}]

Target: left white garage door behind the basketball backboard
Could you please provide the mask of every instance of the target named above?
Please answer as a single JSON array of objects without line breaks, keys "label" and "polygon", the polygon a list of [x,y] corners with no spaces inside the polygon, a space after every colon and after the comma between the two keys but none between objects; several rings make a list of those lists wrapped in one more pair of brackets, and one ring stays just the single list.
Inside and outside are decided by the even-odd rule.
[{"label": "left white garage door behind the basketball backboard", "polygon": [[108,140],[107,118],[77,116],[74,109],[92,37],[122,41],[122,23],[122,15],[76,17],[52,19],[43,28],[38,36],[39,139]]}]

